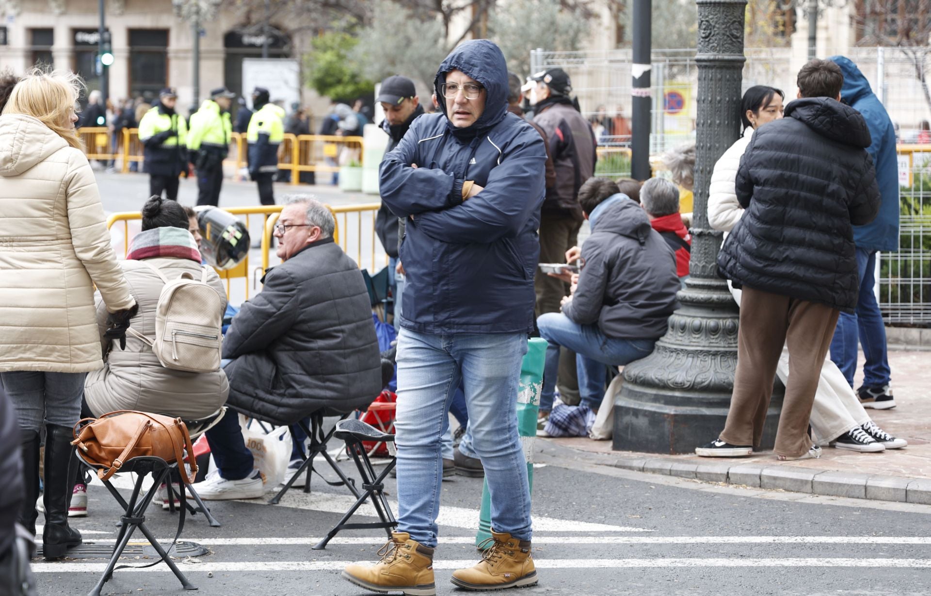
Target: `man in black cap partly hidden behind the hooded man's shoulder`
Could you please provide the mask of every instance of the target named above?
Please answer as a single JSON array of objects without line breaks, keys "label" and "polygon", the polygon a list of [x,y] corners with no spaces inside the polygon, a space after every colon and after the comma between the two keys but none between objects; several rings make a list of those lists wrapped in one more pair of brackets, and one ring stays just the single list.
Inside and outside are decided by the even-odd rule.
[{"label": "man in black cap partly hidden behind the hooded man's shoulder", "polygon": [[[414,118],[424,113],[423,106],[420,105],[420,98],[417,97],[417,89],[413,86],[413,81],[406,76],[395,74],[382,81],[382,87],[379,88],[376,102],[382,104],[382,110],[385,111],[385,120],[382,121],[382,129],[388,135],[388,144],[385,147],[385,155],[398,146],[398,142],[404,138],[404,134],[411,128]],[[396,281],[395,284],[395,321],[399,320],[401,309],[401,291],[404,288],[403,273],[404,269],[398,262],[398,250],[400,249],[400,240],[404,236],[404,220],[398,219],[388,210],[385,203],[382,203],[381,209],[375,215],[375,233],[378,239],[382,241],[385,252],[388,253],[388,278]],[[398,273],[398,279],[395,273]],[[397,281],[400,281],[398,284]],[[396,322],[395,327],[398,327]]]}]

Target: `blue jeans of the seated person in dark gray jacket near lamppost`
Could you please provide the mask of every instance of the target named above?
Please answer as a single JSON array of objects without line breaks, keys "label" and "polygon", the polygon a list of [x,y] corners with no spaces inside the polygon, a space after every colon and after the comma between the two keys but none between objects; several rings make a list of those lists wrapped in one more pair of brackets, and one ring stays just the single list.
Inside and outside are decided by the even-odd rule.
[{"label": "blue jeans of the seated person in dark gray jacket near lamppost", "polygon": [[546,313],[536,319],[540,337],[546,347],[546,368],[543,373],[543,391],[540,393],[540,411],[553,409],[556,395],[556,375],[560,370],[560,345],[575,352],[579,377],[579,396],[592,410],[598,410],[604,398],[607,380],[605,366],[620,366],[646,358],[653,351],[654,339],[619,339],[608,337],[598,325],[579,325],[562,313]]}]

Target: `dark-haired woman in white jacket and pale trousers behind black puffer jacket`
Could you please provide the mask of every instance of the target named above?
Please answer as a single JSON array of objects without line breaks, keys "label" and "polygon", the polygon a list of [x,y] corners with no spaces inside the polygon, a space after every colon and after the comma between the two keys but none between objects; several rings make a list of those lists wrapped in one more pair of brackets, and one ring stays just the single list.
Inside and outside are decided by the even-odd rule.
[{"label": "dark-haired woman in white jacket and pale trousers behind black puffer jacket", "polygon": [[[744,134],[731,145],[718,159],[711,173],[708,191],[708,223],[725,234],[734,229],[744,210],[737,202],[735,177],[740,168],[740,158],[749,145],[753,131],[767,122],[782,117],[782,91],[772,87],[751,87],[744,93],[741,104],[741,119]],[[740,305],[740,291],[731,289],[737,305]],[[783,384],[789,378],[789,354],[783,352],[776,369],[776,374]],[[812,407],[811,427],[815,439],[820,444],[830,444],[841,449],[857,452],[878,452],[885,449],[898,449],[908,443],[886,433],[870,419],[870,414],[863,409],[857,394],[847,384],[843,373],[830,360],[830,355],[821,368],[821,378]],[[695,450],[699,455],[713,455],[701,448]]]}]

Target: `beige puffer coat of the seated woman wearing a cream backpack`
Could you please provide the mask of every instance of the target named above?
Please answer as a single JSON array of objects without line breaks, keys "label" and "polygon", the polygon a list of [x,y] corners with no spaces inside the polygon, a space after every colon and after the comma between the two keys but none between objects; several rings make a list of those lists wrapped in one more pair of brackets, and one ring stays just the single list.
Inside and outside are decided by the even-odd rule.
[{"label": "beige puffer coat of the seated woman wearing a cream backpack", "polygon": [[[139,303],[139,312],[129,320],[129,327],[146,337],[155,339],[155,309],[158,296],[165,283],[146,264],[152,264],[169,279],[182,273],[191,273],[200,279],[200,266],[190,259],[155,257],[141,261],[121,263],[132,295]],[[220,294],[223,311],[226,310],[226,292],[220,276],[208,268],[207,283]],[[126,349],[121,350],[118,342],[105,339],[106,308],[100,294],[97,298],[97,323],[100,329],[97,349],[109,351],[103,369],[88,374],[84,397],[94,415],[115,410],[139,410],[149,413],[164,413],[181,416],[185,420],[196,420],[209,416],[226,403],[229,383],[223,369],[215,373],[187,373],[167,369],[149,345],[131,334],[126,336]]]}]

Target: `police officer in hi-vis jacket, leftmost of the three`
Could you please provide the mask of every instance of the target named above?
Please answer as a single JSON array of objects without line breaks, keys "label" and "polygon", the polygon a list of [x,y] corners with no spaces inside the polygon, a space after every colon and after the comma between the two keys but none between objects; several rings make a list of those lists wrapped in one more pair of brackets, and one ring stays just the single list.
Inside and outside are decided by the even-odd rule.
[{"label": "police officer in hi-vis jacket, leftmost of the three", "polygon": [[175,112],[178,92],[164,88],[158,103],[142,116],[139,140],[145,147],[145,171],[149,173],[149,195],[178,200],[178,176],[187,169],[187,123]]}]

